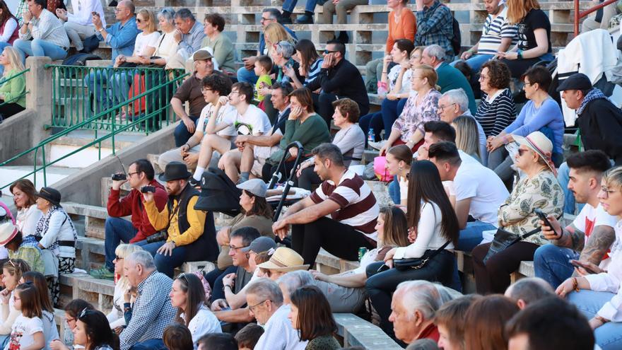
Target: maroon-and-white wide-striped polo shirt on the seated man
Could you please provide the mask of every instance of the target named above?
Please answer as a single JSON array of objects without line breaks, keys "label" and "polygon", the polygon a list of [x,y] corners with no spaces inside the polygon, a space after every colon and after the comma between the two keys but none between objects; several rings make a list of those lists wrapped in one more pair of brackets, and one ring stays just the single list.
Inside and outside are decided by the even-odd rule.
[{"label": "maroon-and-white wide-striped polo shirt on the seated man", "polygon": [[377,240],[375,233],[376,219],[380,207],[370,187],[352,170],[346,170],[339,184],[327,180],[311,194],[315,204],[331,199],[339,204],[339,210],[330,214],[330,218],[345,225],[352,226],[356,231],[364,233],[368,238]]}]

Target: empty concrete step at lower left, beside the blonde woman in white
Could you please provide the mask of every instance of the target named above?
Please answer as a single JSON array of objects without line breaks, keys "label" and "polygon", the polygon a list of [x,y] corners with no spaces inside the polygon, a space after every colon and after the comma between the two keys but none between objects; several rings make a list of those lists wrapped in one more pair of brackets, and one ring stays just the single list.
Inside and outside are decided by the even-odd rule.
[{"label": "empty concrete step at lower left, beside the blonde woman in white", "polygon": [[66,305],[66,301],[81,298],[92,303],[98,310],[110,310],[112,307],[112,297],[115,295],[115,282],[103,279],[95,279],[89,274],[77,273],[61,274],[59,276],[61,284],[61,306]]}]

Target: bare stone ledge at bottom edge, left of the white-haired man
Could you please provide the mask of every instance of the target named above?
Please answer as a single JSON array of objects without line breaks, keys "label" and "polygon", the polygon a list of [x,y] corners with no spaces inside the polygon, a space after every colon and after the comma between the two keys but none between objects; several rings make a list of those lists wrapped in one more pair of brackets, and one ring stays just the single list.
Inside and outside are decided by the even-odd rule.
[{"label": "bare stone ledge at bottom edge, left of the white-haired man", "polygon": [[344,337],[344,346],[363,346],[365,349],[402,349],[380,327],[372,325],[351,313],[333,314],[337,323],[337,334]]}]

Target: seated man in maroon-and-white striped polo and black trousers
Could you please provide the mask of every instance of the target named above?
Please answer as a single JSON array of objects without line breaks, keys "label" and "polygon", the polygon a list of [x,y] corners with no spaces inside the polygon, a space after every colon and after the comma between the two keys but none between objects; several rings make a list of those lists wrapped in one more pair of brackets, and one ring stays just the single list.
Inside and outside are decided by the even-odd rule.
[{"label": "seated man in maroon-and-white striped polo and black trousers", "polygon": [[376,198],[365,181],[346,168],[339,147],[321,144],[312,154],[322,185],[291,206],[272,230],[283,239],[292,225],[292,248],[310,266],[320,247],[341,259],[356,260],[359,247],[376,247]]}]

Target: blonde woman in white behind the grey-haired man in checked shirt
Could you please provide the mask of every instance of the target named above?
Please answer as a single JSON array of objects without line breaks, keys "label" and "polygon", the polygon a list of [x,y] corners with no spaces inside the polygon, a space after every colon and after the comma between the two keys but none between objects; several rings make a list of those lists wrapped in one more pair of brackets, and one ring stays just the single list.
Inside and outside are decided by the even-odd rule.
[{"label": "blonde woman in white behind the grey-haired man in checked shirt", "polygon": [[123,317],[124,293],[130,285],[129,280],[124,276],[123,264],[126,257],[129,257],[131,253],[138,250],[143,250],[143,248],[133,244],[121,244],[118,245],[115,250],[116,257],[112,262],[115,264],[115,275],[119,275],[119,279],[117,279],[117,284],[115,284],[115,295],[112,297],[112,309],[110,313],[106,315],[108,322],[110,322],[111,329],[123,328],[125,326],[125,318]]}]

